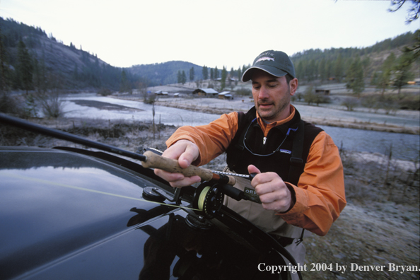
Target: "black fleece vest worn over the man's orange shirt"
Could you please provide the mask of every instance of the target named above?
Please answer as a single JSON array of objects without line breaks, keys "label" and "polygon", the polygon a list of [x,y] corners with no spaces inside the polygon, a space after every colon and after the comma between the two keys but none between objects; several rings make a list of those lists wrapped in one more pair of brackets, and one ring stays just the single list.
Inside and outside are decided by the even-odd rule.
[{"label": "black fleece vest worn over the man's orange shirt", "polygon": [[[296,179],[289,180],[291,179],[289,178],[289,169],[291,165],[293,139],[298,132],[300,122],[301,115],[298,110],[295,110],[293,119],[270,129],[267,138],[264,139],[264,133],[256,119],[255,107],[252,107],[246,114],[239,112],[238,132],[236,132],[233,141],[226,151],[228,168],[236,173],[247,174],[248,165],[253,164],[262,173],[275,172],[284,181],[297,185],[298,176],[303,173],[303,167],[307,161],[310,146],[317,134],[322,132],[322,129],[319,127],[303,121],[303,165],[301,165],[302,168],[298,171],[298,176],[294,176]],[[273,153],[274,151],[276,152]],[[270,153],[273,154],[269,155]]]}]

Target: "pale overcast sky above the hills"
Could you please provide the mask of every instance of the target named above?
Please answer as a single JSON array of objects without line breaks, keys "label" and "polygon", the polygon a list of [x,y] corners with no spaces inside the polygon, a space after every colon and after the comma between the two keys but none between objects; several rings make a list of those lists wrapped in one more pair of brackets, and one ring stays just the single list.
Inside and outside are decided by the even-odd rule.
[{"label": "pale overcast sky above the hills", "polygon": [[182,60],[235,69],[267,49],[368,47],[419,28],[409,4],[349,0],[0,0],[0,16],[119,67]]}]

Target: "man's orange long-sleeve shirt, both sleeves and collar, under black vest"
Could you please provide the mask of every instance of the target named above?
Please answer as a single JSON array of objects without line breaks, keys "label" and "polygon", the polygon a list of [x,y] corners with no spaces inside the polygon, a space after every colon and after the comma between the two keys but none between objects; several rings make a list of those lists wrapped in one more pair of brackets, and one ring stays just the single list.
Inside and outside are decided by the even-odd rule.
[{"label": "man's orange long-sleeve shirt, both sleeves and collar, under black vest", "polygon": [[[259,118],[257,121],[267,136],[269,129],[284,124],[294,116],[280,122],[267,124]],[[180,139],[187,139],[199,147],[199,158],[194,165],[204,165],[226,151],[238,130],[238,113],[222,115],[210,124],[197,127],[180,127],[166,141],[171,146]],[[317,235],[325,235],[332,223],[346,206],[344,192],[344,172],[339,150],[326,132],[320,132],[312,145],[305,168],[298,185],[286,182],[292,188],[296,202],[289,211],[279,216],[293,226],[305,228]]]}]

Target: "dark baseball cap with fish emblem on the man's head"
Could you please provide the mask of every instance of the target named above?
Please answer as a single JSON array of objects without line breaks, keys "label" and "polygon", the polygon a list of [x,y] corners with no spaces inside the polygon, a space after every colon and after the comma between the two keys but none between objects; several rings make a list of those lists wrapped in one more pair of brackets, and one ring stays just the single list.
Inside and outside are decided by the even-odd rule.
[{"label": "dark baseball cap with fish emblem on the man's head", "polygon": [[252,66],[242,75],[242,81],[250,81],[254,69],[264,70],[276,77],[290,74],[293,78],[296,78],[293,62],[286,53],[280,51],[269,50],[259,54]]}]

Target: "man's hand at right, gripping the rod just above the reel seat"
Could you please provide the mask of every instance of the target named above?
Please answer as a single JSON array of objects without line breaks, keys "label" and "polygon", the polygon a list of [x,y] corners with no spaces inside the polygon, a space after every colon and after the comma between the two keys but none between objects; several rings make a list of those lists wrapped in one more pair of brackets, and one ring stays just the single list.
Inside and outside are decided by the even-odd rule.
[{"label": "man's hand at right, gripping the rod just above the reel seat", "polygon": [[264,209],[286,212],[293,206],[291,192],[277,173],[261,173],[255,165],[249,165],[248,172],[257,173],[251,185],[259,195]]}]

